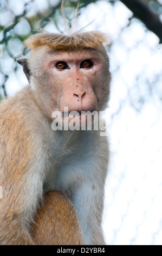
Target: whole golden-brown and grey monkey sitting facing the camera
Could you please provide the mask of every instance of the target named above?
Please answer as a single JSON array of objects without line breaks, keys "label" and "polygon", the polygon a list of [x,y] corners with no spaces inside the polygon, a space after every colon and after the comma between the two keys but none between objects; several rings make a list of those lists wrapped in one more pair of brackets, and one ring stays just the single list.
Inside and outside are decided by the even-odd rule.
[{"label": "whole golden-brown and grey monkey sitting facing the camera", "polygon": [[[111,73],[106,41],[99,31],[79,31],[40,32],[24,42],[30,55],[19,63],[29,84],[0,104],[0,245],[48,240],[105,245],[101,222],[108,139],[99,130],[54,130],[52,124],[56,111],[68,123],[74,119],[70,113],[78,112],[81,126],[82,112],[107,107]],[[65,205],[75,222],[72,229]],[[51,234],[44,231],[46,224]]]}]

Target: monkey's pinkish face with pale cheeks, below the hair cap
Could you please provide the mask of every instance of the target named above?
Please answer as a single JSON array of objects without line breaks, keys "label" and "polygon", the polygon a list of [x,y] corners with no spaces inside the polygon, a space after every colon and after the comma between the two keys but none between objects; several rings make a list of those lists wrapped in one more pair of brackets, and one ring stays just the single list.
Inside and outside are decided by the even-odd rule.
[{"label": "monkey's pinkish face with pale cheeks, below the hair cap", "polygon": [[[37,64],[38,63],[38,64]],[[62,118],[73,119],[70,112],[101,111],[109,95],[109,60],[101,50],[49,51],[46,47],[29,57],[31,88],[42,111],[51,118],[60,111]]]}]

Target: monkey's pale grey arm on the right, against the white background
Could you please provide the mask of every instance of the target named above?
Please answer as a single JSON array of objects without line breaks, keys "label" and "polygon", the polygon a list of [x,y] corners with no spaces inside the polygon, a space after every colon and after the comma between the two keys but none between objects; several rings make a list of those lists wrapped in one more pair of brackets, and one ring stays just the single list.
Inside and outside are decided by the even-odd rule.
[{"label": "monkey's pale grey arm on the right, against the white background", "polygon": [[107,137],[98,136],[95,137],[93,151],[89,152],[89,163],[82,167],[83,182],[76,187],[72,198],[86,245],[105,245],[101,222],[109,149]]}]

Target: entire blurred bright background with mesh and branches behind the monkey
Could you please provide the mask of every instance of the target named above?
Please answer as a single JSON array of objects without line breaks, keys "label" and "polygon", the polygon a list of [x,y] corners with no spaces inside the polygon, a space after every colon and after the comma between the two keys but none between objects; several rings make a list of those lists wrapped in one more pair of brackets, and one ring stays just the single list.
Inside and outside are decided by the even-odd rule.
[{"label": "entire blurred bright background with mesh and branches behind the monkey", "polygon": [[[28,81],[16,59],[43,28],[64,32],[60,0],[0,0],[0,98]],[[69,22],[109,35],[111,163],[105,186],[107,245],[162,245],[162,0],[65,0]]]}]

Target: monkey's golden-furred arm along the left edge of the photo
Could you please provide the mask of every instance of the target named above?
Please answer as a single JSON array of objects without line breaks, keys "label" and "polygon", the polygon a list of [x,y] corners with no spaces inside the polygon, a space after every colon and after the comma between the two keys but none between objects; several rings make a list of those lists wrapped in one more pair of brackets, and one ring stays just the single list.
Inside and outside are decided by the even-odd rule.
[{"label": "monkey's golden-furred arm along the left edge of the photo", "polygon": [[[41,150],[30,127],[33,120],[23,110],[23,98],[27,95],[24,94],[21,99],[18,97],[16,95],[2,102],[0,111],[0,184],[3,189],[3,198],[0,199],[1,245],[33,244],[29,222],[32,221],[43,187]],[[30,111],[32,104],[29,105]]]}]

